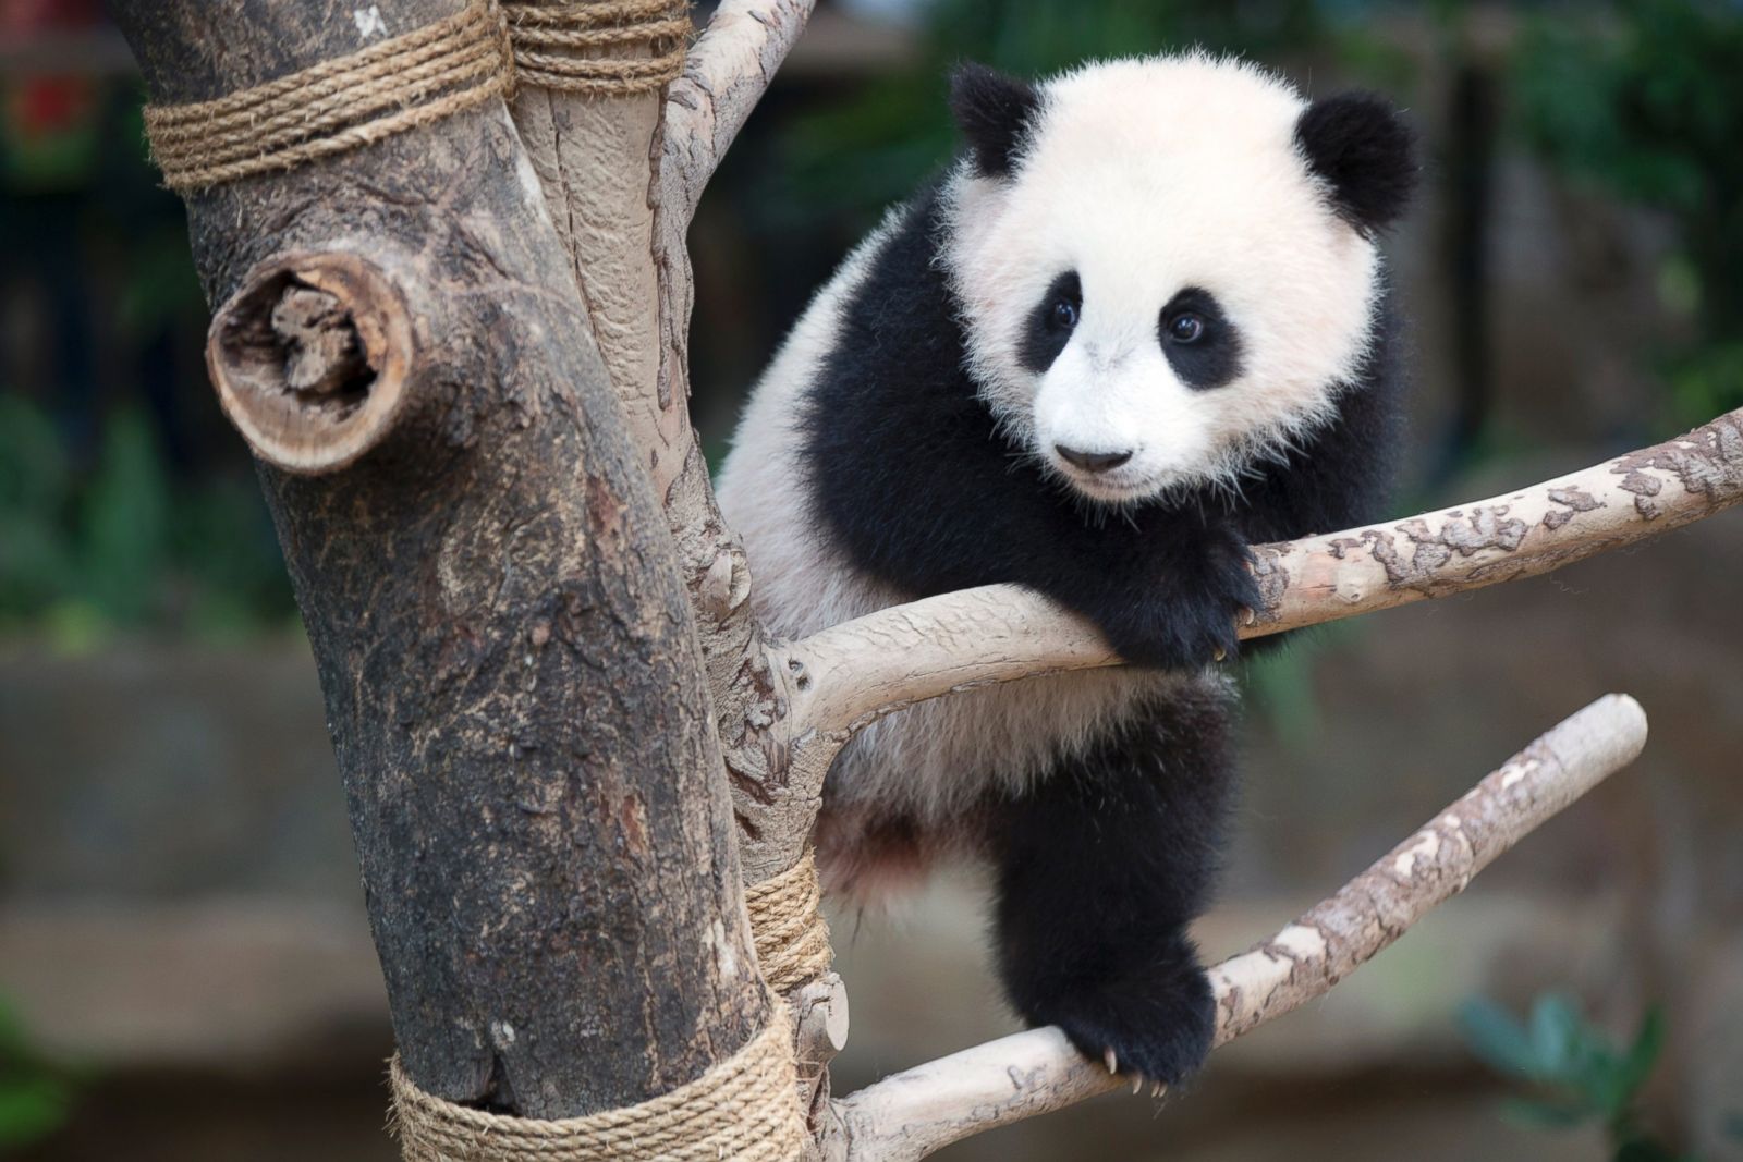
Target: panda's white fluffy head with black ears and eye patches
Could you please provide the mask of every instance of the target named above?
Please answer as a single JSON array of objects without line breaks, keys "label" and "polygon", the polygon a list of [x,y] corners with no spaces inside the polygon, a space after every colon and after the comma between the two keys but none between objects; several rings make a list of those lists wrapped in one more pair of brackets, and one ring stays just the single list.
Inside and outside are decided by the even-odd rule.
[{"label": "panda's white fluffy head with black ears and eye patches", "polygon": [[1103,503],[1231,483],[1335,413],[1415,176],[1391,106],[1197,54],[1039,87],[966,66],[952,105],[969,369],[1053,474]]}]

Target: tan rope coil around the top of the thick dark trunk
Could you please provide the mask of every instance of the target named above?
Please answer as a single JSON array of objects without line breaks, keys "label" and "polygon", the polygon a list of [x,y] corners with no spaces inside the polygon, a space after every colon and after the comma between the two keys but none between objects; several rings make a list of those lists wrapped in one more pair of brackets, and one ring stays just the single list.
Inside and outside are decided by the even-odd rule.
[{"label": "tan rope coil around the top of the thick dark trunk", "polygon": [[291,169],[481,105],[512,87],[492,0],[213,101],[152,105],[145,129],[171,190]]}]

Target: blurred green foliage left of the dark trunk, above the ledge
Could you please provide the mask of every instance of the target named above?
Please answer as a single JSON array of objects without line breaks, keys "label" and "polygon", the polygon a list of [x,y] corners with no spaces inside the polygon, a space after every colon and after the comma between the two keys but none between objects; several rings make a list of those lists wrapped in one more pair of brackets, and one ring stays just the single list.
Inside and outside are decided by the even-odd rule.
[{"label": "blurred green foliage left of the dark trunk, above the ledge", "polygon": [[291,613],[253,481],[173,481],[129,408],[77,472],[49,418],[0,394],[0,632],[35,627],[84,650],[115,629],[225,639]]}]

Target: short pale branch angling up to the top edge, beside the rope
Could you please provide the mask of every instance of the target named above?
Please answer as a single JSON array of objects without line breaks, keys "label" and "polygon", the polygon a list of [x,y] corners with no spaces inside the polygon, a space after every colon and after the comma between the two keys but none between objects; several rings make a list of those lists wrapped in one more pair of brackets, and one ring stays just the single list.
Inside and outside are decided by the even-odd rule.
[{"label": "short pale branch angling up to the top edge, beside the rope", "polygon": [[666,96],[662,209],[690,225],[702,186],[739,136],[816,0],[722,0]]}]

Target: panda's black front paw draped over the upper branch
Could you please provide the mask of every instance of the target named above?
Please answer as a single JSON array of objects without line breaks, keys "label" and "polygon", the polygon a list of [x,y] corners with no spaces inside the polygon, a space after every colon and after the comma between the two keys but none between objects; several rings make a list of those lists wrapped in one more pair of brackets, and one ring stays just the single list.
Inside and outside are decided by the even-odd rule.
[{"label": "panda's black front paw draped over the upper branch", "polygon": [[1258,603],[1251,552],[1227,535],[1206,537],[1143,592],[1110,598],[1091,617],[1133,665],[1194,671],[1239,652],[1239,622]]}]

